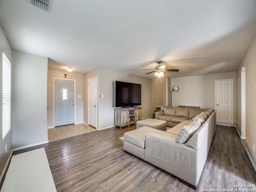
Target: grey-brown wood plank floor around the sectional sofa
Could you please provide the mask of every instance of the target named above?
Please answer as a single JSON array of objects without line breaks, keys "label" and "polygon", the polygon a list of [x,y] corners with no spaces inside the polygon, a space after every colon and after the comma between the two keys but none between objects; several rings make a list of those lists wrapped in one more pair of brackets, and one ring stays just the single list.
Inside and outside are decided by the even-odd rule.
[{"label": "grey-brown wood plank floor around the sectional sofa", "polygon": [[[13,155],[44,147],[58,192],[193,192],[172,174],[123,151],[123,141],[118,138],[133,129],[134,126],[95,131]],[[196,191],[234,190],[230,185],[247,184],[256,184],[256,172],[244,149],[244,140],[236,128],[217,126]]]}]

